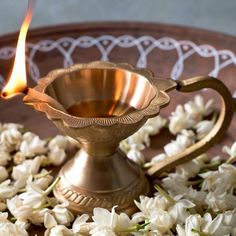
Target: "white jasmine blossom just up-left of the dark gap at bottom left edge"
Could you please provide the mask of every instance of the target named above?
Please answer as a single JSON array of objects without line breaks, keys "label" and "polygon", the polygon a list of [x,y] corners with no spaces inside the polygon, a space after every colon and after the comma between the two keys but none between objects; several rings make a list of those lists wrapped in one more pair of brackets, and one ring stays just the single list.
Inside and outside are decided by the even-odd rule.
[{"label": "white jasmine blossom just up-left of the dark gap at bottom left edge", "polygon": [[18,195],[11,199],[7,199],[7,207],[17,220],[23,222],[26,222],[33,213],[32,206],[24,204]]}]

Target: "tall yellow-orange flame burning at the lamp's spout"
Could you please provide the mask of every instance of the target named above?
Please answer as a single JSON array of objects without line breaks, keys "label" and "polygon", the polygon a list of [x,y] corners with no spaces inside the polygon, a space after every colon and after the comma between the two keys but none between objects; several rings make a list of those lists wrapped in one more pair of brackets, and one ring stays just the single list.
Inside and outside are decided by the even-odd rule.
[{"label": "tall yellow-orange flame burning at the lamp's spout", "polygon": [[25,65],[25,40],[32,19],[34,0],[28,1],[28,8],[22,23],[16,47],[15,61],[9,81],[2,90],[3,98],[11,98],[27,89]]}]

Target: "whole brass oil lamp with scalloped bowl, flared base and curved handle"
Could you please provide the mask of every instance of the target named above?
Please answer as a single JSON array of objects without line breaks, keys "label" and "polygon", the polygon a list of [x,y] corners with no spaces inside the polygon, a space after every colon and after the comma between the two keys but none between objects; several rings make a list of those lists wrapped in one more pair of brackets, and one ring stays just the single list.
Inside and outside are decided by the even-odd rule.
[{"label": "whole brass oil lamp with scalloped bowl, flared base and curved handle", "polygon": [[101,61],[55,70],[42,78],[24,102],[44,112],[81,144],[81,150],[60,171],[56,197],[68,200],[70,209],[78,213],[90,214],[94,207],[110,209],[114,205],[118,211],[132,213],[133,200],[147,194],[149,185],[140,167],[119,150],[119,142],[169,103],[168,91],[203,87],[213,88],[223,97],[214,130],[185,153],[149,169],[149,175],[194,158],[227,129],[233,106],[222,83],[203,77],[176,82],[154,78],[146,69]]}]

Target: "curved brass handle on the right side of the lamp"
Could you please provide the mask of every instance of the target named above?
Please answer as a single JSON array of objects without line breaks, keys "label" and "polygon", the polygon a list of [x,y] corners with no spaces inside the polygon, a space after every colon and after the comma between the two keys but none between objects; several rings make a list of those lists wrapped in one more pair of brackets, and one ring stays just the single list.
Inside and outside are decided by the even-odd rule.
[{"label": "curved brass handle on the right side of the lamp", "polygon": [[165,91],[169,91],[173,88],[176,88],[176,90],[180,92],[194,92],[203,88],[214,89],[221,95],[221,111],[215,126],[209,132],[209,134],[183,152],[175,156],[168,157],[166,160],[163,160],[149,168],[147,170],[148,175],[154,175],[161,171],[169,170],[176,165],[191,160],[205,152],[221,138],[223,138],[227,128],[230,125],[234,113],[235,101],[233,100],[230,91],[220,80],[216,78],[199,76],[186,80],[174,81],[176,82],[175,86],[173,86],[173,80],[168,81],[172,83],[172,86],[164,89]]}]

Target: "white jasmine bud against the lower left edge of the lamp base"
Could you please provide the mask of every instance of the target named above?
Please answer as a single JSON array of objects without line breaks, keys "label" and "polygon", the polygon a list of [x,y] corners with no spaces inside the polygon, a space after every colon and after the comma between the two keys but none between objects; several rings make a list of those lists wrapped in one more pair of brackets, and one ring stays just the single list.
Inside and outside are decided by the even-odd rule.
[{"label": "white jasmine bud against the lower left edge of the lamp base", "polygon": [[74,220],[74,215],[67,209],[69,202],[64,202],[52,209],[52,215],[60,225],[69,226]]}]

